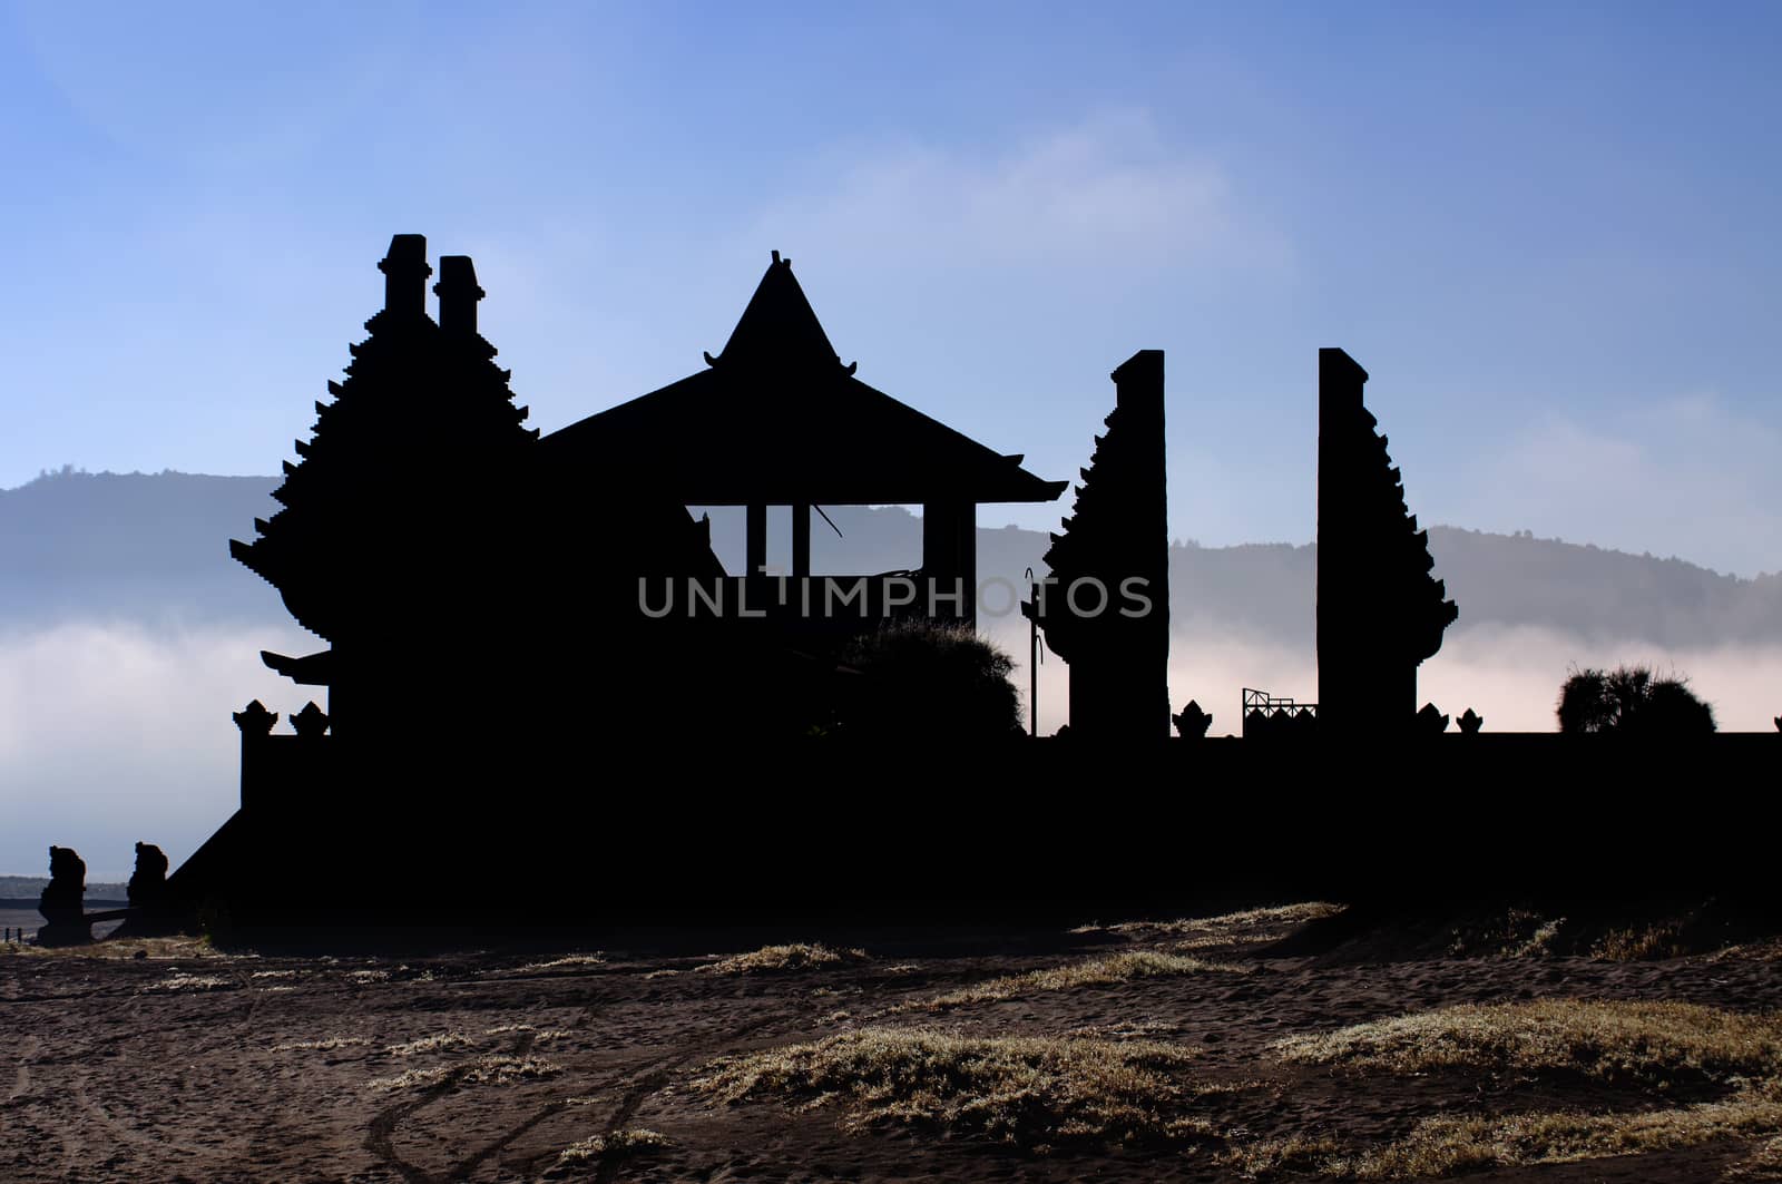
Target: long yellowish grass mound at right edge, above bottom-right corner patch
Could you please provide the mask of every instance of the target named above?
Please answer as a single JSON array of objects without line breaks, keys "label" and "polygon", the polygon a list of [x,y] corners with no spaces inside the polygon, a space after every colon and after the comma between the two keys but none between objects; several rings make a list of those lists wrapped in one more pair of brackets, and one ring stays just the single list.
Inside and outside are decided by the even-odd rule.
[{"label": "long yellowish grass mound at right edge, above bottom-right corner patch", "polygon": [[1782,1016],[1680,1002],[1540,999],[1445,1007],[1288,1036],[1290,1061],[1422,1073],[1443,1068],[1563,1070],[1604,1081],[1730,1081],[1782,1070]]}]

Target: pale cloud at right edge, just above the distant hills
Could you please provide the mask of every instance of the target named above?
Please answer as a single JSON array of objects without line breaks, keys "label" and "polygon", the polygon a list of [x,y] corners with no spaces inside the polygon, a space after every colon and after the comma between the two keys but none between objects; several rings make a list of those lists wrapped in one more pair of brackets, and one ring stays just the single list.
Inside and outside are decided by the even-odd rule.
[{"label": "pale cloud at right edge, just above the distant hills", "polygon": [[1782,432],[1714,394],[1550,412],[1479,460],[1442,517],[1755,576],[1782,571],[1778,455]]}]

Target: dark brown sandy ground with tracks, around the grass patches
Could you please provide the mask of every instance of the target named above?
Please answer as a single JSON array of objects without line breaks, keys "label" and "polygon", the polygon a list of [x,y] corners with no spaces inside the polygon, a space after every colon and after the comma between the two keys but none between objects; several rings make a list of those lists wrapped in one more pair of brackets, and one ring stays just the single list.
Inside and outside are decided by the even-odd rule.
[{"label": "dark brown sandy ground with tracks, around the grass patches", "polygon": [[[1283,1061],[1271,1041],[1285,1034],[1536,997],[1782,1004],[1773,949],[1645,963],[1271,958],[1288,927],[1263,915],[1174,929],[850,934],[866,958],[747,974],[702,968],[750,949],[722,938],[709,954],[298,958],[155,940],[12,950],[0,954],[0,1180],[1222,1180],[1238,1172],[1219,1155],[1258,1139],[1367,1145],[1433,1114],[1691,1100],[1565,1073],[1361,1077]],[[1135,949],[1242,970],[921,1006]],[[693,1084],[715,1057],[864,1025],[1155,1040],[1192,1050],[1196,1081],[1230,1088],[1192,1104],[1217,1132],[1205,1141],[1041,1154],[982,1132],[855,1127],[836,1100],[725,1104]],[[659,1138],[563,1159],[622,1131]],[[1759,1143],[1746,1132],[1465,1179],[1714,1180]]]}]

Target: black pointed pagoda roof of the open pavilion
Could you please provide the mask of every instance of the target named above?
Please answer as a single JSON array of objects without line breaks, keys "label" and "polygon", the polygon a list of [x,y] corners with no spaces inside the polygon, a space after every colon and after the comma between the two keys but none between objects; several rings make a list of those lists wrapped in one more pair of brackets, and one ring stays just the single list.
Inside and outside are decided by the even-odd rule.
[{"label": "black pointed pagoda roof of the open pavilion", "polygon": [[686,505],[1051,501],[1069,485],[855,378],[779,251],[706,364],[552,432],[545,458],[638,473]]}]

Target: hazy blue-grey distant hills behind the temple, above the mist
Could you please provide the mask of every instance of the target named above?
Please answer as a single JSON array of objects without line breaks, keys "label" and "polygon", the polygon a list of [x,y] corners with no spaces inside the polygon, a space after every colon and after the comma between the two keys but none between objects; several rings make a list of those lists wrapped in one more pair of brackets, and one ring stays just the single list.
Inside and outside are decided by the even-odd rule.
[{"label": "hazy blue-grey distant hills behind the temple, above the mist", "polygon": [[[278,508],[269,496],[276,485],[264,476],[64,471],[0,492],[0,629],[94,619],[150,628],[285,624],[278,594],[228,556],[230,539],[251,539],[253,519]],[[822,521],[813,526],[816,571],[879,572],[921,562],[921,521],[907,510],[825,510],[841,537]],[[720,558],[740,569],[741,510],[715,508],[711,517]],[[775,522],[770,531],[782,539]],[[1046,546],[1041,531],[980,528],[980,580],[1000,576],[1025,588],[1023,571],[1042,571]],[[1549,626],[1666,647],[1782,640],[1782,576],[1741,580],[1675,558],[1447,526],[1429,531],[1429,546],[1436,576],[1459,603],[1461,628]],[[1310,647],[1313,578],[1310,544],[1178,544],[1173,621],[1178,629]],[[989,599],[1007,596],[998,588]]]}]

